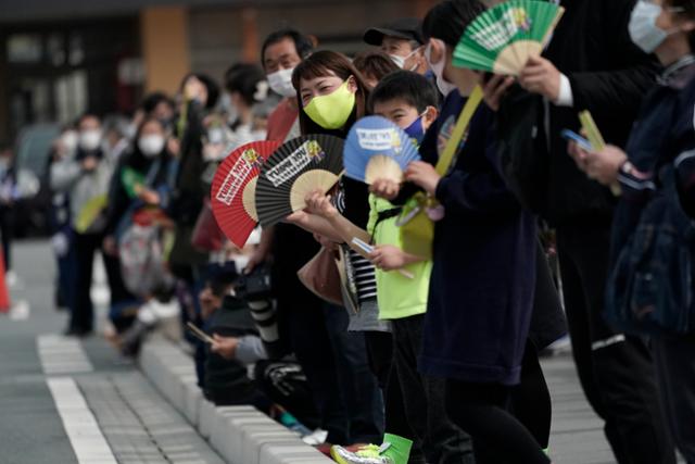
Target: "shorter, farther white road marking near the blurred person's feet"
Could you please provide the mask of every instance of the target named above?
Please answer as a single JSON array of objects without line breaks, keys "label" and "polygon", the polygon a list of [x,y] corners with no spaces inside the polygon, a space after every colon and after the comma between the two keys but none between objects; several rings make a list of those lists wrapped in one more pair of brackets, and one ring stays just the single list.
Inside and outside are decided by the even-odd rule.
[{"label": "shorter, farther white road marking near the blurred person's feet", "polygon": [[93,372],[79,340],[60,335],[39,335],[37,338],[39,359],[48,375],[79,374]]}]

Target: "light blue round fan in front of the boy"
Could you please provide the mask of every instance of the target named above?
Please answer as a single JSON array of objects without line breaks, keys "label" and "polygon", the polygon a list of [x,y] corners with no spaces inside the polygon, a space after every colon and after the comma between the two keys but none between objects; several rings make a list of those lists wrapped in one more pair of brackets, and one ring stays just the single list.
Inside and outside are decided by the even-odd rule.
[{"label": "light blue round fan in front of the boy", "polygon": [[403,172],[420,159],[410,137],[391,121],[367,116],[357,121],[345,142],[345,176],[366,184],[377,179],[403,181]]}]

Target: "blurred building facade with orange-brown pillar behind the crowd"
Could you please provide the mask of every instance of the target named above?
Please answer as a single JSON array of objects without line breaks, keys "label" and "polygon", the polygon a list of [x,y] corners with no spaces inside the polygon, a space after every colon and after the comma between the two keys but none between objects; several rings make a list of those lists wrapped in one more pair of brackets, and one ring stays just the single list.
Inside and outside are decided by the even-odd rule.
[{"label": "blurred building facade with orange-brown pillar behind the crowd", "polygon": [[188,72],[222,79],[258,62],[270,32],[364,49],[365,28],[422,16],[434,0],[22,0],[0,2],[0,141],[85,111],[128,113],[147,91],[175,93]]}]

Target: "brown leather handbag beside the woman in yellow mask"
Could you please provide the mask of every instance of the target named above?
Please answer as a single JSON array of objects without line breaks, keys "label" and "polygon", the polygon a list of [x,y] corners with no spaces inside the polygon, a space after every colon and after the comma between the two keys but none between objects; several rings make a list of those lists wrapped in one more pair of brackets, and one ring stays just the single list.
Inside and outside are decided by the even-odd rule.
[{"label": "brown leather handbag beside the woman in yellow mask", "polygon": [[341,279],[336,263],[336,253],[326,247],[298,271],[296,276],[304,287],[329,303],[342,305]]}]

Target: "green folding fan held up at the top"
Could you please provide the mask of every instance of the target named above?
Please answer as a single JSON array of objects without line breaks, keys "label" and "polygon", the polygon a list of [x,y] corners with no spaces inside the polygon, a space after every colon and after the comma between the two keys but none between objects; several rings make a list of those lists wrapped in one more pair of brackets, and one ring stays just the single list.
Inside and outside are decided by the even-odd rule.
[{"label": "green folding fan held up at the top", "polygon": [[518,76],[539,57],[565,9],[547,1],[509,0],[480,14],[454,50],[454,66]]}]

